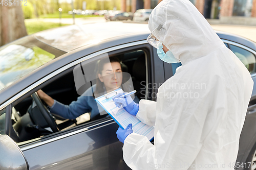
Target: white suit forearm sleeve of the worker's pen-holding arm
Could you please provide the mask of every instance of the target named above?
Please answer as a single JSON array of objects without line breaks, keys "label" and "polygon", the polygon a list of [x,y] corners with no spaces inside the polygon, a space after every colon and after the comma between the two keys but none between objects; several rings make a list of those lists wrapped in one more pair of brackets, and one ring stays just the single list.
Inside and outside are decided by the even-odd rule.
[{"label": "white suit forearm sleeve of the worker's pen-holding arm", "polygon": [[139,111],[136,115],[140,121],[149,126],[155,126],[157,102],[141,100],[139,102]]}]

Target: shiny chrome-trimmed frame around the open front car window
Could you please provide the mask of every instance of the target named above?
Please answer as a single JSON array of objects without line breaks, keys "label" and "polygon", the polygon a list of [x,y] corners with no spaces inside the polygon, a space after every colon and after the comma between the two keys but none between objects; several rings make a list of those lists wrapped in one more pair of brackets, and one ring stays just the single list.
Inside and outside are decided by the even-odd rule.
[{"label": "shiny chrome-trimmed frame around the open front car window", "polygon": [[[87,55],[87,56],[83,56],[82,58],[78,59],[78,60],[75,60],[73,61],[72,63],[68,64],[68,65],[65,65],[63,67],[60,67],[59,69],[55,70],[54,72],[52,72],[52,74],[40,79],[38,82],[35,82],[34,84],[30,85],[29,87],[27,87],[25,90],[19,92],[18,94],[16,94],[13,98],[16,98],[15,100],[12,98],[10,99],[9,101],[11,100],[14,100],[12,101],[9,105],[8,105],[8,108],[9,110],[6,111],[6,114],[8,112],[6,118],[9,120],[8,124],[6,124],[6,126],[8,126],[7,129],[11,129],[12,128],[12,124],[11,124],[11,110],[12,110],[12,106],[17,104],[18,102],[24,100],[25,98],[28,97],[28,95],[30,93],[33,93],[35,91],[37,91],[38,89],[40,89],[42,86],[45,86],[46,84],[58,79],[59,77],[67,74],[67,72],[73,70],[73,68],[83,62],[83,61],[86,61],[86,60],[89,60],[93,57],[96,57],[100,54],[104,54],[104,53],[116,53],[117,54],[117,51],[118,50],[121,50],[121,51],[124,51],[124,52],[128,52],[132,49],[137,49],[139,48],[138,50],[142,50],[142,46],[150,46],[147,44],[147,42],[145,40],[142,40],[142,41],[137,41],[137,42],[131,42],[131,43],[126,43],[126,44],[122,44],[122,45],[118,45],[118,46],[115,46],[115,47],[110,47],[110,48],[107,48],[107,49],[104,49],[102,51],[99,51],[99,52],[96,52],[96,53],[93,53],[93,54],[90,54],[90,55]],[[133,50],[134,51],[134,50]],[[150,51],[150,50],[149,50]],[[120,51],[118,51],[120,52]],[[152,52],[149,52],[152,54]],[[146,56],[146,55],[145,55]],[[149,61],[147,60],[147,63]],[[147,70],[150,70],[150,69],[147,69]],[[148,71],[147,71],[148,72]],[[147,77],[149,77],[147,75]],[[24,93],[24,91],[26,91],[26,93]],[[95,126],[103,126],[104,124],[108,124],[108,123],[115,123],[114,120],[111,118],[111,117],[105,117],[105,118],[102,118],[102,119],[99,119],[95,122],[92,122],[92,124],[82,124],[80,126],[76,126],[74,128],[71,128],[71,130],[67,130],[67,131],[60,131],[60,132],[57,132],[57,133],[53,133],[53,134],[50,134],[50,135],[47,135],[46,138],[42,139],[42,138],[38,138],[38,140],[34,140],[32,139],[31,142],[28,142],[28,143],[25,143],[25,144],[22,144],[22,145],[19,145],[20,149],[23,150],[27,150],[27,149],[31,149],[31,148],[34,148],[34,147],[37,147],[38,145],[41,145],[41,144],[44,144],[44,143],[48,143],[48,142],[52,142],[53,140],[58,140],[59,138],[64,138],[64,137],[67,137],[67,135],[73,135],[73,134],[77,134],[77,133],[80,133],[80,132],[83,132],[83,131],[86,131],[86,130],[90,130],[92,128],[94,128]],[[9,130],[10,132],[10,130]],[[9,133],[9,136],[10,136],[10,133]]]}]

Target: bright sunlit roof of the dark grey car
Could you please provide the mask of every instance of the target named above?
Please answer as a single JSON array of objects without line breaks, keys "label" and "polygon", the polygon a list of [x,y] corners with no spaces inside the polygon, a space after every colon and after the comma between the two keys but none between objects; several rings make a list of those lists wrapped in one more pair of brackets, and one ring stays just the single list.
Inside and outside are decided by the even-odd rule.
[{"label": "bright sunlit roof of the dark grey car", "polygon": [[150,30],[146,24],[98,22],[49,29],[36,33],[34,36],[38,40],[61,51],[70,52],[81,46],[98,43],[102,40],[141,32],[150,34]]}]

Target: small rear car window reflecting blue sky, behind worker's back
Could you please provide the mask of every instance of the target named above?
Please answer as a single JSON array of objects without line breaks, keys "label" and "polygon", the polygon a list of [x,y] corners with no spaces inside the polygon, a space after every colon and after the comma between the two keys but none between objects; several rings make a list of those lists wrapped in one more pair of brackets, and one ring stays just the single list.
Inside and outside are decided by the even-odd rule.
[{"label": "small rear car window reflecting blue sky, behind worker's back", "polygon": [[250,74],[255,73],[255,56],[251,52],[229,44],[230,50],[242,61],[242,63],[246,66],[246,68],[249,70]]}]

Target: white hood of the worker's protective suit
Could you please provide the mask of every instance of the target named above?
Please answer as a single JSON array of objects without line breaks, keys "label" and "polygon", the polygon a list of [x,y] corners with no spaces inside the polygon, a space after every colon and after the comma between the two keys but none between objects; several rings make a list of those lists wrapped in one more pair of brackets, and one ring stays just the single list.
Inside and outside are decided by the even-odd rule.
[{"label": "white hood of the worker's protective suit", "polygon": [[209,23],[188,0],[163,0],[152,11],[148,28],[183,65],[223,45]]}]

